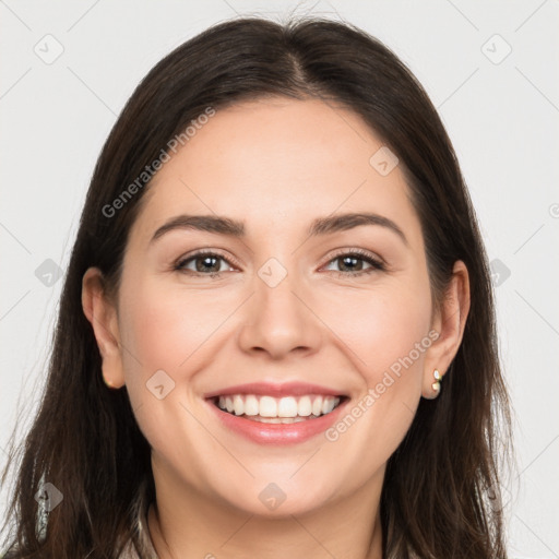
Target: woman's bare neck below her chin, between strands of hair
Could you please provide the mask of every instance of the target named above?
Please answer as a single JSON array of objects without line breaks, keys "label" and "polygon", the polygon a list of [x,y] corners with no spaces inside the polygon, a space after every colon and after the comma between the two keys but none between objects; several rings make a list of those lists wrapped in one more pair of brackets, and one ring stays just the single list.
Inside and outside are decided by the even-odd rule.
[{"label": "woman's bare neck below her chin, between strands of hair", "polygon": [[313,511],[266,518],[156,480],[147,523],[159,559],[381,559],[381,487],[371,479]]}]

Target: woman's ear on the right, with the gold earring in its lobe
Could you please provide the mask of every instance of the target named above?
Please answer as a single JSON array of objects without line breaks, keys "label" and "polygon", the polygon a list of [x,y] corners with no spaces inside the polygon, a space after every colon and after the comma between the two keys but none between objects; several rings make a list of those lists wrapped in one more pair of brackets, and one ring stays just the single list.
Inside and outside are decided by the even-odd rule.
[{"label": "woman's ear on the right, with the gold earring in its lobe", "polygon": [[421,394],[428,400],[439,395],[432,388],[437,381],[433,372],[437,369],[444,377],[462,343],[468,311],[469,276],[464,262],[457,260],[431,325],[439,337],[429,347],[425,359]]}]

